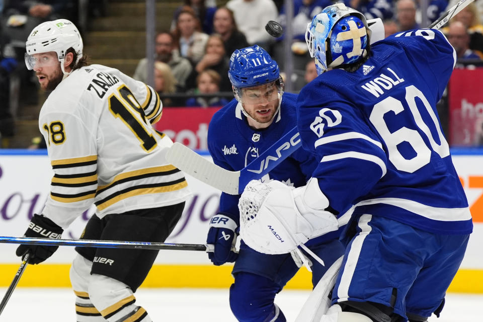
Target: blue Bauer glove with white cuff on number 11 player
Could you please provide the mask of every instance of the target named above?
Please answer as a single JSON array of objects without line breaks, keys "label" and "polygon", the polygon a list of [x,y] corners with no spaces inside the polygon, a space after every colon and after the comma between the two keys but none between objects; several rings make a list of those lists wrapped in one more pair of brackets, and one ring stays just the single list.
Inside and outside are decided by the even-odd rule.
[{"label": "blue Bauer glove with white cuff on number 11 player", "polygon": [[206,243],[215,247],[213,252],[208,253],[208,258],[213,264],[218,266],[234,262],[238,257],[238,253],[232,250],[232,245],[236,242],[236,228],[235,221],[230,217],[217,214],[211,218]]}]

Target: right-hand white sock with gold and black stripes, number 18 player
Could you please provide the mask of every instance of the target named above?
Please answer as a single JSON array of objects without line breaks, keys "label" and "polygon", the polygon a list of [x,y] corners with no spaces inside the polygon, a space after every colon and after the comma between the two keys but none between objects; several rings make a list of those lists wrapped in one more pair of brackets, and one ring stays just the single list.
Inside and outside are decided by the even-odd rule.
[{"label": "right-hand white sock with gold and black stripes, number 18 player", "polygon": [[120,281],[92,274],[89,295],[93,304],[109,322],[152,322],[146,310],[135,305],[136,298],[129,286]]}]

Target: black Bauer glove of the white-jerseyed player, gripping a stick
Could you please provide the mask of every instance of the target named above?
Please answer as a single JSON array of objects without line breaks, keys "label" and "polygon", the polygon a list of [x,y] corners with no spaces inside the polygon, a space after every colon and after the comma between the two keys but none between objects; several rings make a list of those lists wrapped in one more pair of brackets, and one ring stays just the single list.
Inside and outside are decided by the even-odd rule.
[{"label": "black Bauer glove of the white-jerseyed player, gripping a stick", "polygon": [[[24,237],[59,239],[63,231],[60,226],[49,218],[34,214]],[[26,252],[29,252],[29,264],[39,264],[52,256],[58,248],[58,246],[20,245],[16,254],[22,257]]]}]

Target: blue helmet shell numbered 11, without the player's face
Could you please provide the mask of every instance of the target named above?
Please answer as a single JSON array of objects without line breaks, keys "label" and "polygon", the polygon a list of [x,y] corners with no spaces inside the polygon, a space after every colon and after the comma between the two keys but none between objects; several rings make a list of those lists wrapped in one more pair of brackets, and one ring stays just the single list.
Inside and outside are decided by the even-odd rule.
[{"label": "blue helmet shell numbered 11, without the player's face", "polygon": [[242,89],[265,84],[273,83],[272,87],[277,88],[275,94],[283,94],[283,82],[277,62],[258,45],[236,49],[231,54],[228,77],[233,86],[233,94],[240,103],[248,103],[244,102]]}]

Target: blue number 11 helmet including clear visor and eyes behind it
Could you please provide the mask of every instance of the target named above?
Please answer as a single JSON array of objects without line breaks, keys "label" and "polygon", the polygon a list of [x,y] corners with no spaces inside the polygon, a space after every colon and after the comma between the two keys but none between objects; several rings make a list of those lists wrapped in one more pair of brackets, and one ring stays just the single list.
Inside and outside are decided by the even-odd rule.
[{"label": "blue number 11 helmet including clear visor and eyes behind it", "polygon": [[281,101],[283,81],[278,64],[258,45],[231,54],[228,77],[235,99],[242,104]]}]

